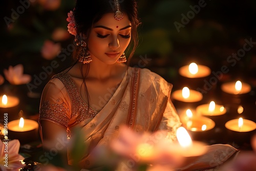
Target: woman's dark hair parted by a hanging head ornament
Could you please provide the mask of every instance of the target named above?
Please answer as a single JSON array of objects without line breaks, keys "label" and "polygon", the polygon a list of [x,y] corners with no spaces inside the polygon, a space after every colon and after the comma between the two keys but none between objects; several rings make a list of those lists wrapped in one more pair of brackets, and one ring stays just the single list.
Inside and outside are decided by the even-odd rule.
[{"label": "woman's dark hair parted by a hanging head ornament", "polygon": [[[129,61],[134,54],[134,51],[138,45],[138,33],[137,28],[140,24],[137,11],[137,2],[135,0],[119,0],[119,10],[125,13],[132,23],[131,30],[131,42],[129,49],[133,46],[130,53]],[[77,27],[77,33],[83,33],[90,36],[90,31],[94,23],[98,22],[100,18],[106,13],[114,13],[117,11],[116,0],[77,0],[76,6],[73,11],[74,18]],[[132,44],[132,45],[131,45]],[[77,59],[75,54],[74,58]]]}]

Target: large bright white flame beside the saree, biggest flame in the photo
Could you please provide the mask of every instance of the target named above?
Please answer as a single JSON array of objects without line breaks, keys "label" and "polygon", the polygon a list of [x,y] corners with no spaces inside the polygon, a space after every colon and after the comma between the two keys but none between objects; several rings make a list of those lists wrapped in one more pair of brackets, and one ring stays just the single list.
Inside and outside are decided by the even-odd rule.
[{"label": "large bright white flame beside the saree, biggest flame in the photo", "polygon": [[184,127],[177,129],[177,139],[182,147],[188,147],[192,145],[192,140]]}]

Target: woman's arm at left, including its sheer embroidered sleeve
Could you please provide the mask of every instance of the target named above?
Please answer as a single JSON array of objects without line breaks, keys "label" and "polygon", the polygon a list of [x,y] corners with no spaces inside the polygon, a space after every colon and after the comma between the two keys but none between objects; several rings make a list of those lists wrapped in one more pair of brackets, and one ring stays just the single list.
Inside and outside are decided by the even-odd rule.
[{"label": "woman's arm at left, including its sheer embroidered sleeve", "polygon": [[45,87],[40,102],[40,136],[47,163],[64,166],[67,158],[67,125],[70,102],[62,82],[55,78]]}]

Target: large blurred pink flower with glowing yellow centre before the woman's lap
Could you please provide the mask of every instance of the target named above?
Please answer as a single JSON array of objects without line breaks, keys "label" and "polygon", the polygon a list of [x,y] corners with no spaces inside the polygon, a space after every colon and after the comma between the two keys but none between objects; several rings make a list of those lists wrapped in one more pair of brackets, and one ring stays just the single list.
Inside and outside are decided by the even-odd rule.
[{"label": "large blurred pink flower with glowing yellow centre before the woman's lap", "polygon": [[172,143],[166,139],[166,135],[164,131],[137,134],[127,127],[120,127],[118,139],[111,143],[111,147],[123,157],[136,158],[137,163],[178,167],[184,158],[172,154],[168,148]]}]

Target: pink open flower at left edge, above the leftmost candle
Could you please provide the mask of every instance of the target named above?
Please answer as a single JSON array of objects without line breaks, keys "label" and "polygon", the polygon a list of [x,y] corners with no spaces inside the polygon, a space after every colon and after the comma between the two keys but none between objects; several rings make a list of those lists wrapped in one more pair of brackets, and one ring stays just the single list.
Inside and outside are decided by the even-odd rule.
[{"label": "pink open flower at left edge, above the leftmost candle", "polygon": [[22,64],[15,67],[9,66],[9,69],[4,69],[5,78],[14,85],[26,84],[31,81],[31,76],[23,74],[24,68]]}]

